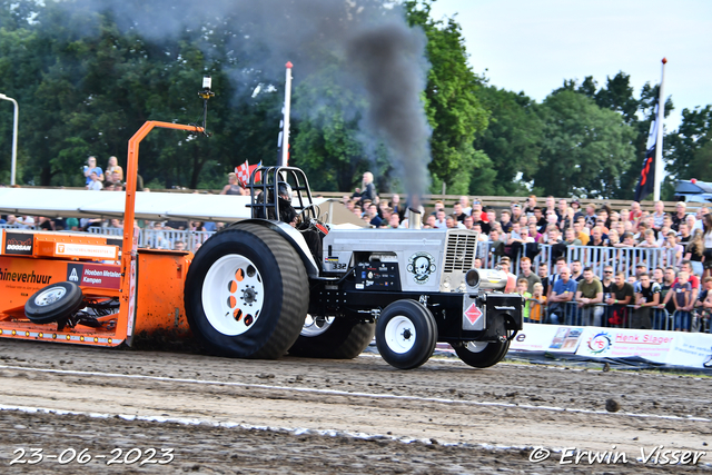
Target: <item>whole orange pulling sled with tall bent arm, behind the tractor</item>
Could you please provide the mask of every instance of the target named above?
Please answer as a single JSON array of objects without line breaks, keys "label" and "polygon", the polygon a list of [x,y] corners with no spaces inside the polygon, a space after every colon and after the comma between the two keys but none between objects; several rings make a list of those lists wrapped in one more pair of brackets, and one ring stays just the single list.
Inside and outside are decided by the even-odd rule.
[{"label": "whole orange pulling sled with tall bent arm, behind the tractor", "polygon": [[0,337],[118,346],[142,333],[188,331],[182,303],[192,254],[138,249],[132,226],[139,144],[156,127],[205,132],[147,121],[131,137],[122,239],[0,229]]}]

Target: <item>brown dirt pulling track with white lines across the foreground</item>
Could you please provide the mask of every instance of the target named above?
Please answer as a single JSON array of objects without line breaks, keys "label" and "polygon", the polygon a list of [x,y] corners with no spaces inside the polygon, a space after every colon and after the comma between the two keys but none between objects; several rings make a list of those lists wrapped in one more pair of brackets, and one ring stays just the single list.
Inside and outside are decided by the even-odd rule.
[{"label": "brown dirt pulling track with white lines across the foreground", "polygon": [[[4,473],[80,467],[47,458],[9,466],[21,447],[175,449],[167,465],[131,465],[137,473],[712,473],[710,378],[514,364],[475,370],[445,359],[402,372],[369,356],[255,362],[7,339],[0,378],[6,409],[75,413],[1,410]],[[605,410],[609,398],[620,412]],[[660,445],[706,454],[696,465],[636,462]],[[560,465],[561,452],[534,463],[537,446],[624,453],[627,464],[591,465],[584,456]]]}]

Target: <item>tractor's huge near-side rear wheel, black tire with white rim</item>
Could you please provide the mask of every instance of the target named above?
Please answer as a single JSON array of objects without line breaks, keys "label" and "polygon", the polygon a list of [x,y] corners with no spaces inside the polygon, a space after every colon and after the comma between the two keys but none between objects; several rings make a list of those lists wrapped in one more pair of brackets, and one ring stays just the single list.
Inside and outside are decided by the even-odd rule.
[{"label": "tractor's huge near-side rear wheel, black tire with white rim", "polygon": [[308,304],[308,277],[297,251],[257,224],[212,236],[186,277],[188,324],[207,350],[221,356],[285,355],[299,336]]}]

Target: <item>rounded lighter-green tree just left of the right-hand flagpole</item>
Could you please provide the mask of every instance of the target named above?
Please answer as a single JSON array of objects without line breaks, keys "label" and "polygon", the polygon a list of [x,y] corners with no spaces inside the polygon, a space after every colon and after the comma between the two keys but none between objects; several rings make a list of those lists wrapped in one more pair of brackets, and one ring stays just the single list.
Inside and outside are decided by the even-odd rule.
[{"label": "rounded lighter-green tree just left of the right-hand flagpole", "polygon": [[613,196],[635,158],[634,131],[621,115],[571,90],[548,96],[543,106],[546,126],[534,185],[555,196]]}]

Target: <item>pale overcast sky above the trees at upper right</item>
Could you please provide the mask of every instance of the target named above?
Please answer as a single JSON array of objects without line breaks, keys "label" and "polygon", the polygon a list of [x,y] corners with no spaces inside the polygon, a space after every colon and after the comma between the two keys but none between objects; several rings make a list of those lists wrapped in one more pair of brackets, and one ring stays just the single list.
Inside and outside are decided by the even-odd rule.
[{"label": "pale overcast sky above the trees at upper right", "polygon": [[635,97],[657,83],[675,110],[712,103],[710,0],[436,0],[435,19],[457,13],[473,70],[490,83],[543,100],[564,79],[631,76]]}]

